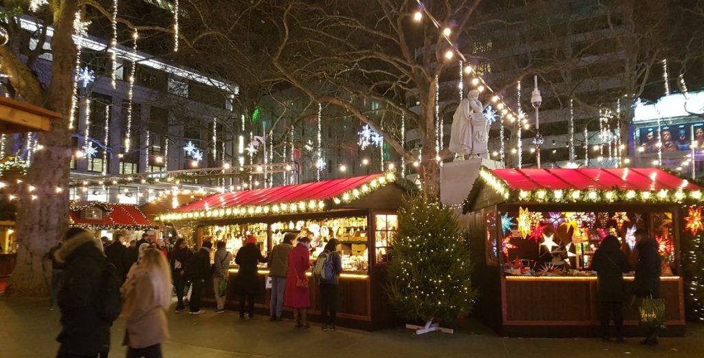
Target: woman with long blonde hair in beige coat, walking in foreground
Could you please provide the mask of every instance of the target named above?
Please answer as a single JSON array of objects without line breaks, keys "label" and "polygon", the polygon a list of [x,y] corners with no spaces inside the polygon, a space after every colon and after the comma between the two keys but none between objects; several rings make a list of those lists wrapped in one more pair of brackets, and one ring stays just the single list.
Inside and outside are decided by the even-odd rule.
[{"label": "woman with long blonde hair in beige coat, walking in foreground", "polygon": [[171,272],[161,251],[148,248],[125,287],[127,358],[161,358],[169,338],[166,311],[171,305]]}]

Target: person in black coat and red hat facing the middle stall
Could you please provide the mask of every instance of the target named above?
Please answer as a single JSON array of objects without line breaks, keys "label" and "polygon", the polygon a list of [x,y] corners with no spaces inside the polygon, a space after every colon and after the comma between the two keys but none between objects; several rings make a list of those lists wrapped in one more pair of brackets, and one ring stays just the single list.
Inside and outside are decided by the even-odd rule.
[{"label": "person in black coat and red hat facing the middle stall", "polygon": [[266,262],[257,246],[257,238],[247,236],[246,245],[237,251],[234,263],[239,265],[235,285],[239,293],[239,318],[244,318],[244,300],[249,300],[249,318],[254,317],[254,296],[257,294],[257,264]]}]

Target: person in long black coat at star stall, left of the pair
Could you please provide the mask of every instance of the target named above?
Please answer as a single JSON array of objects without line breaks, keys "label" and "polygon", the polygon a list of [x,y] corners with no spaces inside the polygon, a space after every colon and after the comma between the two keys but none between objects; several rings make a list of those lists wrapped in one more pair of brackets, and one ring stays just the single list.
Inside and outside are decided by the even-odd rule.
[{"label": "person in long black coat at star stall, left of the pair", "polygon": [[616,339],[623,343],[623,299],[626,287],[623,273],[628,271],[626,255],[621,251],[621,243],[615,236],[606,236],[594,253],[591,269],[598,276],[597,297],[599,318],[604,340],[609,340],[609,319],[613,316]]}]

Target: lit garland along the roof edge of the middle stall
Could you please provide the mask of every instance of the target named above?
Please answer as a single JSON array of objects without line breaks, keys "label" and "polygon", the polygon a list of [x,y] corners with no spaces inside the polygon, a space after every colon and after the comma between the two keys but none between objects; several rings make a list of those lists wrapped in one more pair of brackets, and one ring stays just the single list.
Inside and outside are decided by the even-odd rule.
[{"label": "lit garland along the roof edge of the middle stall", "polygon": [[[343,205],[367,196],[372,191],[397,182],[394,172],[386,172],[382,176],[372,179],[368,183],[352,188],[333,198],[325,200],[296,201],[293,203],[280,203],[271,205],[242,205],[238,207],[211,207],[203,210],[189,212],[168,212],[158,215],[158,222],[173,222],[189,219],[227,219],[232,217],[254,217],[260,215],[298,214],[302,212],[319,212],[326,207]],[[401,180],[401,187],[408,186]]]}]

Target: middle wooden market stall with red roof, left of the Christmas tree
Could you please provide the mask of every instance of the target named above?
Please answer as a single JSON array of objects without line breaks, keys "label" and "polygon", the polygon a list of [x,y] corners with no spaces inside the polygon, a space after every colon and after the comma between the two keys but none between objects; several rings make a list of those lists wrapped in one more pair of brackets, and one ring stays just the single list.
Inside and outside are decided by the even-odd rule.
[{"label": "middle wooden market stall with red roof, left of the Christmas tree", "polygon": [[[157,219],[190,221],[197,228],[199,244],[203,240],[222,240],[231,252],[237,252],[245,236],[252,234],[264,256],[287,232],[310,232],[311,262],[330,238],[337,238],[342,243],[344,269],[339,283],[339,326],[377,329],[389,326],[394,319],[386,303],[384,280],[403,192],[394,173],[386,172],[216,194]],[[237,267],[233,265],[230,282],[234,282],[236,274]],[[256,308],[268,314],[267,274],[265,265],[261,265]],[[208,291],[206,294],[212,295]],[[237,307],[238,297],[235,285],[230,285],[227,306]],[[320,307],[315,284],[310,285],[310,298],[309,315],[315,319]]]}]

